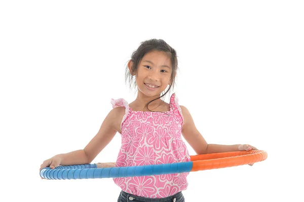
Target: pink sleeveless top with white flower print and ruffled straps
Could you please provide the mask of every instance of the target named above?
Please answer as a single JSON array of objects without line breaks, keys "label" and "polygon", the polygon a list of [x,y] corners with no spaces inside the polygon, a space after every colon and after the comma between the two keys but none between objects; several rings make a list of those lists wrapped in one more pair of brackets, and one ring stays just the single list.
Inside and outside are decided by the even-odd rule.
[{"label": "pink sleeveless top with white flower print and ruffled straps", "polygon": [[[184,120],[175,93],[170,97],[170,111],[167,112],[133,111],[123,98],[111,99],[111,104],[113,108],[126,108],[121,122],[122,145],[116,167],[191,161],[181,139]],[[163,198],[185,190],[188,174],[121,177],[113,180],[123,191],[133,195]]]}]

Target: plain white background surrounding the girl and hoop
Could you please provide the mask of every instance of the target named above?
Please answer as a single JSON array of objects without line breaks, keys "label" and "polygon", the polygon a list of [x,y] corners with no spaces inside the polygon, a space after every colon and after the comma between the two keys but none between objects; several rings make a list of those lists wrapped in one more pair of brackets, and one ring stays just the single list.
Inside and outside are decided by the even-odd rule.
[{"label": "plain white background surrounding the girl and hoop", "polygon": [[[42,180],[39,168],[84,148],[111,98],[135,99],[125,67],[140,42],[157,38],[177,52],[174,92],[207,142],[268,152],[252,167],[190,173],[186,201],[301,201],[300,2],[2,1],[0,197],[117,201],[112,179]],[[120,141],[117,133],[92,163],[115,161]]]}]

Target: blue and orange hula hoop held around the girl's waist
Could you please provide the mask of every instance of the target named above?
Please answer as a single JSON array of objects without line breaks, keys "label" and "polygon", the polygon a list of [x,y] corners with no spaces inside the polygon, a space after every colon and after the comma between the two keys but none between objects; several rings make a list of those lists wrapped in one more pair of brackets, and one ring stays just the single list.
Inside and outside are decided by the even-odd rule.
[{"label": "blue and orange hula hoop held around the girl's waist", "polygon": [[172,164],[111,168],[98,168],[97,164],[58,166],[54,169],[46,167],[40,171],[40,176],[52,180],[135,177],[226,168],[253,164],[265,159],[267,159],[267,153],[263,150],[231,151],[195,155],[191,156],[189,162]]}]

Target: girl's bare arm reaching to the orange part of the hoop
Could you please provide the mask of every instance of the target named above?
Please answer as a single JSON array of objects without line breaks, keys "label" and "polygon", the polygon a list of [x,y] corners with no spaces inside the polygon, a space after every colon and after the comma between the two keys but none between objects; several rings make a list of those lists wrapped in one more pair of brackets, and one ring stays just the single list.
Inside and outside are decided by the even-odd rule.
[{"label": "girl's bare arm reaching to the orange part of the hoop", "polygon": [[181,130],[182,135],[198,155],[256,149],[254,146],[251,145],[248,145],[247,147],[246,144],[208,144],[202,134],[196,128],[193,118],[189,113],[188,109],[184,106],[180,106],[180,108],[182,116],[184,118],[184,123]]}]

